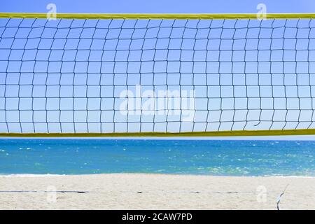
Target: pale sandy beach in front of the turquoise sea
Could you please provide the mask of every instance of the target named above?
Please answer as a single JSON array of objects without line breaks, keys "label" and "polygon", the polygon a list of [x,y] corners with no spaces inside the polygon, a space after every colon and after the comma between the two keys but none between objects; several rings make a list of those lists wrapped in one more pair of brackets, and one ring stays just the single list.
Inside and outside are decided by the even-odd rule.
[{"label": "pale sandy beach in front of the turquoise sea", "polygon": [[0,209],[276,209],[281,193],[280,209],[315,209],[313,177],[0,176]]}]

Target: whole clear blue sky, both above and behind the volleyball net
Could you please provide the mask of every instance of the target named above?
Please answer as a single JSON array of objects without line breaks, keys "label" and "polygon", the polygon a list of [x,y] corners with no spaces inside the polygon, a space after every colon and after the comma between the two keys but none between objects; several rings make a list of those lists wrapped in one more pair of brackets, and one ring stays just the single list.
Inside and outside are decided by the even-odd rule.
[{"label": "whole clear blue sky, both above and behind the volleyball net", "polygon": [[[314,0],[11,0],[1,3],[0,11],[45,13],[48,3],[56,4],[57,13],[257,13],[258,3],[265,3],[267,13],[315,11]],[[125,126],[120,123],[125,123],[130,117],[117,113],[120,101],[115,92],[121,86],[131,88],[136,84],[143,85],[144,89],[162,85],[163,88],[173,86],[195,90],[196,98],[200,98],[195,102],[195,126],[192,127],[191,123],[187,127],[180,124],[180,116],[174,116],[174,119],[163,116],[161,120],[163,123],[167,120],[170,132],[179,129],[204,131],[232,128],[232,123],[222,123],[217,127],[218,120],[239,121],[233,125],[239,125],[237,128],[240,130],[244,127],[244,120],[253,121],[250,126],[257,129],[258,119],[262,121],[259,123],[260,129],[268,129],[274,120],[279,121],[278,126],[272,127],[274,129],[294,129],[297,120],[304,121],[299,123],[299,128],[307,128],[310,123],[314,126],[315,89],[311,89],[311,85],[314,87],[315,79],[310,78],[315,68],[314,20],[311,23],[308,20],[290,20],[284,21],[285,24],[283,20],[272,24],[270,21],[260,24],[260,21],[252,20],[248,24],[242,20],[222,24],[222,21],[211,23],[208,20],[197,25],[196,21],[183,25],[179,21],[173,25],[167,21],[150,21],[148,25],[139,22],[137,28],[140,28],[132,33],[132,38],[136,37],[132,40],[128,33],[133,27],[132,21],[125,22],[124,31],[120,32],[121,20],[110,25],[106,25],[109,21],[104,20],[97,25],[95,21],[85,22],[84,25],[76,21],[70,25],[69,20],[60,23],[50,21],[47,24],[46,20],[37,20],[31,25],[33,28],[22,29],[29,26],[27,21],[20,24],[20,20],[8,22],[1,19],[0,132],[33,129],[36,132],[46,132],[47,129],[59,132],[54,131],[59,126],[66,131],[70,126],[72,128],[73,120],[78,123],[75,129],[83,132],[86,132],[86,123],[90,123],[90,132],[99,132],[99,120],[106,123],[114,120],[118,126],[115,126],[116,130],[124,130]],[[21,28],[18,32],[17,25]],[[56,32],[56,26],[63,29]],[[108,34],[104,34],[106,26],[113,28]],[[82,27],[85,27],[84,31]],[[239,29],[235,31],[233,27]],[[296,27],[302,29],[297,32]],[[159,41],[155,40],[157,36],[160,37]],[[296,41],[296,38],[300,39]],[[306,66],[307,63],[309,66]],[[154,78],[153,68],[156,70]],[[90,86],[87,87],[86,83],[90,83]],[[103,85],[104,91],[99,85]],[[298,90],[297,85],[300,85]],[[260,97],[265,99],[260,100]],[[221,102],[221,98],[225,99]],[[235,113],[233,109],[241,113]],[[219,110],[225,111],[221,113]],[[134,116],[132,119],[137,121],[138,126],[134,124],[130,127],[134,127],[133,131],[151,132],[153,119],[156,118]],[[128,122],[132,123],[132,119]],[[173,126],[169,125],[169,120],[174,121]],[[58,124],[60,121],[62,125]],[[160,123],[159,120],[154,121]],[[207,121],[215,123],[214,127],[207,126]],[[8,127],[4,125],[6,122],[10,123]],[[113,127],[113,124],[110,125]],[[165,128],[163,124],[158,131]],[[106,127],[107,131],[112,132],[111,128]]]}]

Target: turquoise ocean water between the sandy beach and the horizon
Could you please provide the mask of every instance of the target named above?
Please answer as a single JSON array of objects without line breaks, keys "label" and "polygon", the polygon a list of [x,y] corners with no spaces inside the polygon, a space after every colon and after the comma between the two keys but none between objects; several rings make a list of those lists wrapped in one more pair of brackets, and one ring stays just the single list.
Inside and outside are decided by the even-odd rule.
[{"label": "turquoise ocean water between the sandy beach and the horizon", "polygon": [[315,141],[0,139],[0,174],[315,176]]}]

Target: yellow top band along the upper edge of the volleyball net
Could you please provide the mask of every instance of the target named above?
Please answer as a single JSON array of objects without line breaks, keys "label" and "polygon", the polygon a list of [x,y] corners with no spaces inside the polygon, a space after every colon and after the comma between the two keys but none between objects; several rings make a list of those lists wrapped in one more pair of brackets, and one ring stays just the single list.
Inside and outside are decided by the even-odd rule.
[{"label": "yellow top band along the upper edge of the volleyball net", "polygon": [[[48,18],[51,13],[0,13],[0,18]],[[132,19],[132,20],[248,20],[261,19],[261,14],[103,14],[103,13],[56,13],[57,19]],[[314,19],[315,13],[267,13],[265,19]]]}]

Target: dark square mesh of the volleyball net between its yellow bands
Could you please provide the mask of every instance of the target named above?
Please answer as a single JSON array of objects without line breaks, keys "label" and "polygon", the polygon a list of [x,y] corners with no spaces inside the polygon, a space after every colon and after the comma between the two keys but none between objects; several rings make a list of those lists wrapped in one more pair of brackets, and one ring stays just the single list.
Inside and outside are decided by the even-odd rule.
[{"label": "dark square mesh of the volleyball net between its yellow bands", "polygon": [[314,128],[314,20],[0,19],[0,132]]}]

